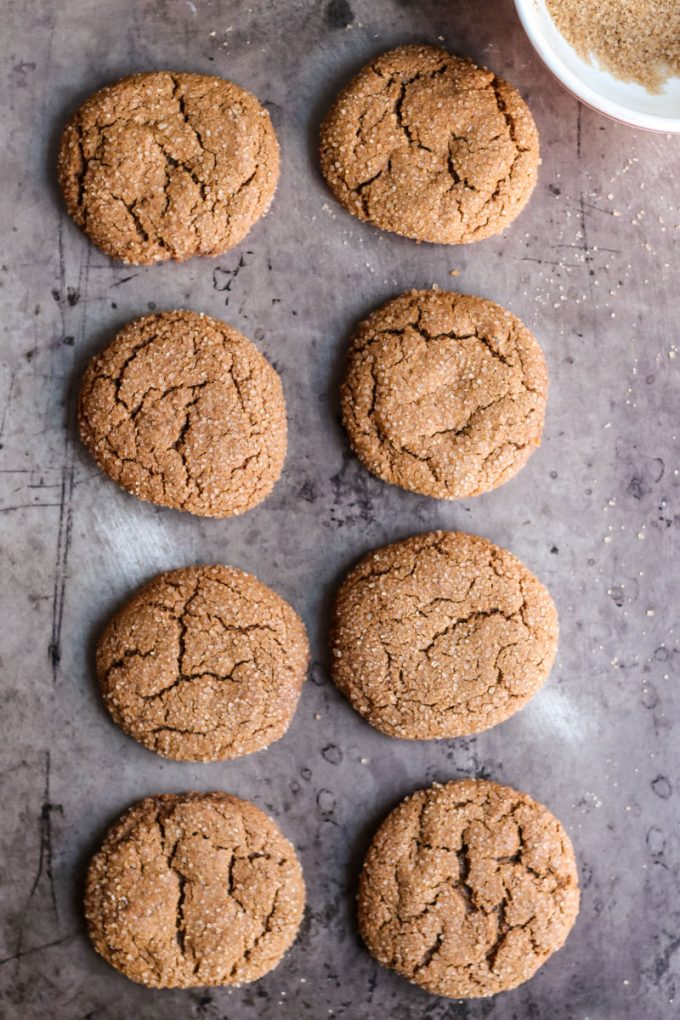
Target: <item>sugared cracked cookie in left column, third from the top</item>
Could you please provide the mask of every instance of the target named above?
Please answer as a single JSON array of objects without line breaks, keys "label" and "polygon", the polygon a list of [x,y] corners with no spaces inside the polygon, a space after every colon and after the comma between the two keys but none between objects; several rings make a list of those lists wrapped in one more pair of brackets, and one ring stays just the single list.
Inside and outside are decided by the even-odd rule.
[{"label": "sugared cracked cookie in left column, third from the top", "polygon": [[97,646],[106,706],[152,751],[239,758],[283,735],[309,646],[298,614],[233,567],[172,570],[117,613]]}]

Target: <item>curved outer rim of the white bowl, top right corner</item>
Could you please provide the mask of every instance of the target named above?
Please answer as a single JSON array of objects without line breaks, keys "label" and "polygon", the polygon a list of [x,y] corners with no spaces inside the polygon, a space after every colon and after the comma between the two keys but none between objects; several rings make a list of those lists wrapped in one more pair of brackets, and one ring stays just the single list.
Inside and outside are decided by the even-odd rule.
[{"label": "curved outer rim of the white bowl, top right corner", "polygon": [[515,0],[515,9],[522,27],[529,37],[533,48],[543,61],[545,66],[564,85],[564,87],[580,99],[586,106],[599,113],[604,113],[614,120],[629,124],[632,128],[643,128],[647,131],[657,131],[664,134],[680,134],[680,116],[669,117],[664,114],[644,113],[641,110],[633,110],[613,99],[608,99],[601,92],[592,89],[586,82],[575,74],[560,58],[560,56],[550,47],[543,34],[537,26],[536,18],[532,16],[535,11],[535,0]]}]

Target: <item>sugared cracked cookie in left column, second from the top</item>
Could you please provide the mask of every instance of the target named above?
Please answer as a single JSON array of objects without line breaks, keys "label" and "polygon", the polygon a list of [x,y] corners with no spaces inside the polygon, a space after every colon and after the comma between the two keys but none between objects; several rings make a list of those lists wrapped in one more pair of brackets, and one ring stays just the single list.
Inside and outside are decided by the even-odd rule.
[{"label": "sugared cracked cookie in left column, second from the top", "polygon": [[196,312],[124,326],[86,369],[79,424],[127,492],[203,517],[256,506],[285,458],[278,374],[237,329]]}]

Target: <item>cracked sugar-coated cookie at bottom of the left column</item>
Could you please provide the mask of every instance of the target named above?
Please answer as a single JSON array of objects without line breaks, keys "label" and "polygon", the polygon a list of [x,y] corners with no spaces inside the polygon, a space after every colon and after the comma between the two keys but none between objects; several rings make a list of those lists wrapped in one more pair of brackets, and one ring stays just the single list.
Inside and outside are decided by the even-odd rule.
[{"label": "cracked sugar-coated cookie at bottom of the left column", "polygon": [[85,900],[97,952],[151,988],[257,980],[293,944],[304,906],[293,846],[222,793],[132,807],[92,859]]}]

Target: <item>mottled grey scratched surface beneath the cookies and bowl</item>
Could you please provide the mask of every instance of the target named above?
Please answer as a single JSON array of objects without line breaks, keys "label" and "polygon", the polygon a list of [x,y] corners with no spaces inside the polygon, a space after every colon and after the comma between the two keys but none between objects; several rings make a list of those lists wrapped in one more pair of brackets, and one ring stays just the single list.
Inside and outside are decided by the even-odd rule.
[{"label": "mottled grey scratched surface beneath the cookies and bowl", "polygon": [[[579,108],[533,55],[510,0],[2,7],[2,1017],[678,1016],[678,140]],[[504,238],[460,249],[419,247],[352,219],[315,159],[318,120],[341,82],[383,48],[439,37],[515,82],[542,138],[528,210]],[[214,71],[256,92],[279,133],[282,178],[272,211],[237,251],[122,267],[65,216],[55,143],[91,90],[163,67]],[[452,279],[452,269],[461,275]],[[535,329],[552,375],[541,450],[512,482],[468,503],[369,476],[337,423],[353,324],[401,290],[432,284],[506,304]],[[240,519],[136,502],[74,438],[72,395],[87,358],[127,318],[177,305],[228,319],[282,374],[285,471]],[[476,740],[412,745],[371,730],[335,693],[324,620],[358,556],[431,527],[478,531],[524,559],[556,597],[562,643],[546,688],[519,716]],[[154,572],[218,560],[294,602],[315,664],[287,736],[269,751],[224,765],[163,762],[105,714],[93,641]],[[518,990],[471,1004],[428,997],[378,968],[353,915],[378,820],[413,788],[461,775],[492,776],[546,803],[573,836],[583,879],[565,950]],[[85,865],[138,798],[213,787],[252,798],[297,844],[304,929],[256,985],[147,991],[90,949]]]}]

